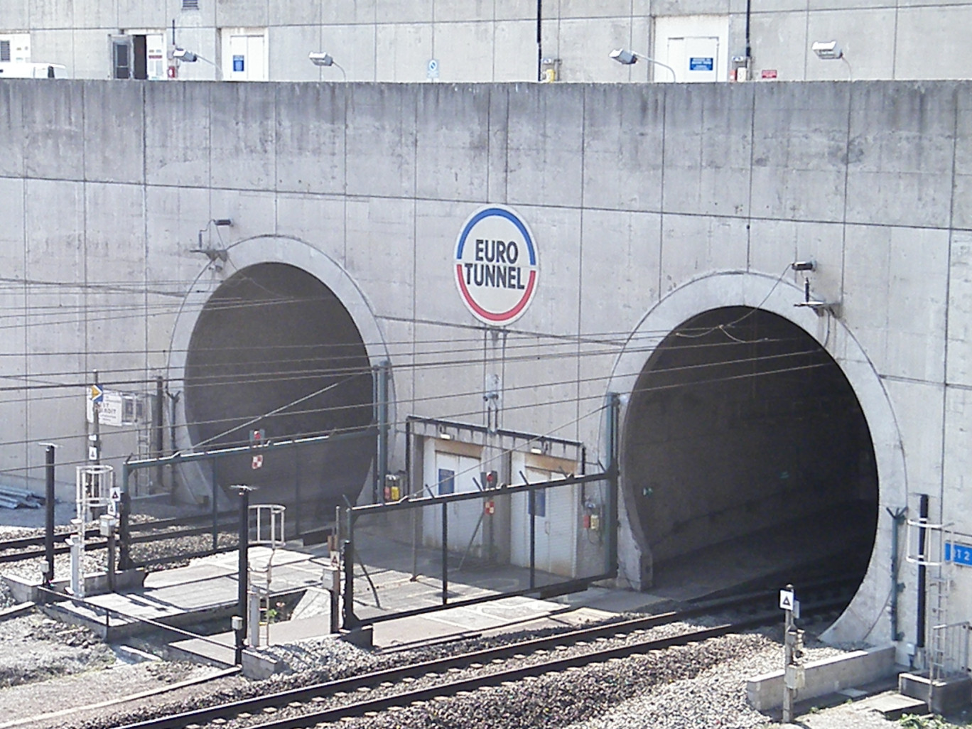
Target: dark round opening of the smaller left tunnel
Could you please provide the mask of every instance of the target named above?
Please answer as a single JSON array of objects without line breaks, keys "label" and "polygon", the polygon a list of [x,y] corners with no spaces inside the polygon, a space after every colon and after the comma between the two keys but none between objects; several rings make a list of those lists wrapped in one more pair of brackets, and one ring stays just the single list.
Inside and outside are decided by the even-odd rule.
[{"label": "dark round opening of the smaller left tunnel", "polygon": [[260,263],[220,286],[192,331],[185,397],[197,451],[247,444],[256,430],[264,442],[356,434],[267,452],[259,469],[253,452],[219,459],[224,490],[246,484],[254,503],[288,505],[296,531],[357,500],[375,448],[372,372],[351,315],[306,271]]}]

